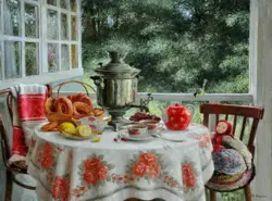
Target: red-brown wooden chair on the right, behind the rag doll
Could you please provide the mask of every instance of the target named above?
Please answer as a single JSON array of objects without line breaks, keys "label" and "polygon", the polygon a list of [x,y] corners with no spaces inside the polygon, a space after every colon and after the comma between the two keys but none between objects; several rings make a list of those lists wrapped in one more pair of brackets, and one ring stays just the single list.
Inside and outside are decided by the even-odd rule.
[{"label": "red-brown wooden chair on the right, behind the rag doll", "polygon": [[[240,140],[245,142],[245,130],[246,127],[249,128],[249,139],[248,142],[245,142],[248,150],[251,152],[252,158],[255,155],[255,137],[258,128],[259,121],[263,117],[263,108],[257,106],[246,106],[246,105],[232,105],[232,104],[212,104],[205,103],[200,105],[200,113],[203,114],[203,125],[208,127],[210,114],[215,115],[215,123],[219,120],[230,121],[230,116],[233,116],[233,130],[236,137],[239,137]],[[243,120],[242,129],[239,131],[236,130],[237,120]],[[251,120],[251,123],[249,123]],[[212,128],[213,129],[213,128]],[[214,130],[214,129],[213,129]],[[239,134],[239,135],[238,135]],[[246,201],[251,201],[251,191],[250,185],[247,185],[244,188]],[[217,192],[214,190],[210,190],[210,201],[217,201]]]}]

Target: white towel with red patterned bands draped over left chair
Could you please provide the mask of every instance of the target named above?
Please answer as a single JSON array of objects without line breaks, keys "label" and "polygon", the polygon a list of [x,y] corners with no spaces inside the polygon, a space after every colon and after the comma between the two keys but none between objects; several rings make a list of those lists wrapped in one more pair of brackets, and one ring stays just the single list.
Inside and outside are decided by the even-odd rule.
[{"label": "white towel with red patterned bands draped over left chair", "polygon": [[34,127],[45,122],[47,87],[44,85],[17,85],[12,90],[13,142],[9,163],[25,161]]}]

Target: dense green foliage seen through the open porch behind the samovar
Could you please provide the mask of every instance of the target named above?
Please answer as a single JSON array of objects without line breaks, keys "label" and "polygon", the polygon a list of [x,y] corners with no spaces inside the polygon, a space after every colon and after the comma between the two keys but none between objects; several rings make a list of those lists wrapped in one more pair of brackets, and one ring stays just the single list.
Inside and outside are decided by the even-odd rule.
[{"label": "dense green foliage seen through the open porch behind the samovar", "polygon": [[85,0],[83,9],[86,75],[116,46],[141,70],[139,91],[194,92],[208,79],[207,92],[248,92],[248,0]]}]

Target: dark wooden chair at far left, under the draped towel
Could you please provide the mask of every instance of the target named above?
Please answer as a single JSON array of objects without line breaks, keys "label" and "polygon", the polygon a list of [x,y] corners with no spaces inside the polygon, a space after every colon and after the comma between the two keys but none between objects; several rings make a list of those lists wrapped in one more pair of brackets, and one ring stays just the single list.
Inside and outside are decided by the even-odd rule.
[{"label": "dark wooden chair at far left, under the draped towel", "polygon": [[[50,88],[50,85],[47,85],[48,88]],[[29,189],[35,190],[35,186],[29,186],[21,180],[16,179],[17,174],[27,174],[27,166],[22,163],[15,163],[13,165],[9,164],[9,159],[11,158],[11,148],[9,145],[9,138],[8,138],[8,131],[4,127],[4,121],[3,117],[9,117],[12,122],[12,106],[11,106],[11,100],[12,100],[12,93],[11,89],[3,89],[0,90],[0,96],[5,98],[5,102],[9,109],[10,116],[4,116],[1,114],[0,111],[0,135],[1,135],[1,150],[2,150],[2,160],[3,164],[5,166],[5,194],[4,194],[4,201],[12,201],[12,186],[13,183],[16,185]]]}]

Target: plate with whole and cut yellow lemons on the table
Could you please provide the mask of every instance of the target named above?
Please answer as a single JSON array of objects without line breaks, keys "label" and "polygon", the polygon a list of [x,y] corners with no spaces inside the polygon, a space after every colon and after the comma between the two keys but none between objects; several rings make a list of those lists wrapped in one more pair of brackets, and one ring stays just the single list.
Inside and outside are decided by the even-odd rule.
[{"label": "plate with whole and cut yellow lemons on the table", "polygon": [[92,134],[91,128],[87,125],[75,126],[73,123],[64,122],[59,125],[58,130],[65,138],[74,140],[90,139],[92,142],[100,141],[100,137],[97,134]]}]

